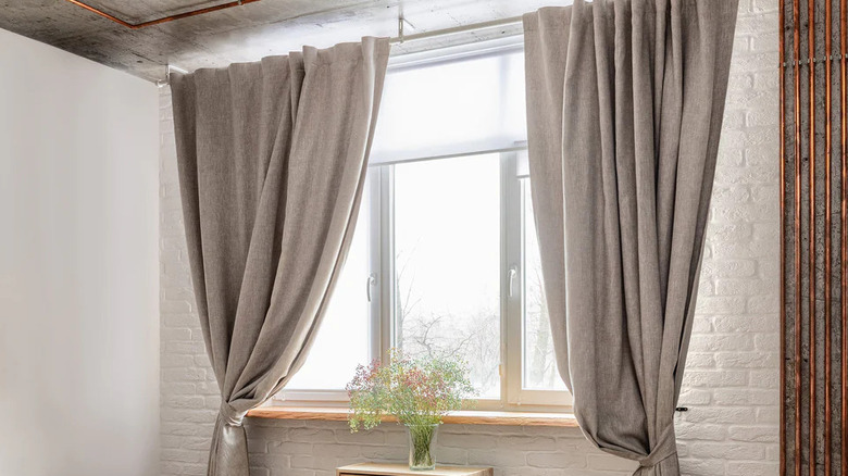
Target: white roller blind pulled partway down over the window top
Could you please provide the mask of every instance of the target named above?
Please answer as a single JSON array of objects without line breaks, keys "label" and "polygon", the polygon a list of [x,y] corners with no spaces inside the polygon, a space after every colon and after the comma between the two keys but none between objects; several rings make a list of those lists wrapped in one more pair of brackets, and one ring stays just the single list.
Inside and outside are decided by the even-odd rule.
[{"label": "white roller blind pulled partway down over the window top", "polygon": [[389,71],[371,163],[526,140],[522,51]]}]

